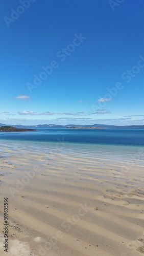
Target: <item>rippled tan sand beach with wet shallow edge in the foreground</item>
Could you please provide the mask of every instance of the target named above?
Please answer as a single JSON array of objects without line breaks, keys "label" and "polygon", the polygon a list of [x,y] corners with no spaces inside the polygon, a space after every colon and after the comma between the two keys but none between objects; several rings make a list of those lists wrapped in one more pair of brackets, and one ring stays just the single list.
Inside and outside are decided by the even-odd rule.
[{"label": "rippled tan sand beach with wet shallow edge in the foreground", "polygon": [[136,147],[132,156],[116,148],[94,152],[68,147],[50,154],[46,147],[1,145],[0,254],[144,254],[144,157]]}]

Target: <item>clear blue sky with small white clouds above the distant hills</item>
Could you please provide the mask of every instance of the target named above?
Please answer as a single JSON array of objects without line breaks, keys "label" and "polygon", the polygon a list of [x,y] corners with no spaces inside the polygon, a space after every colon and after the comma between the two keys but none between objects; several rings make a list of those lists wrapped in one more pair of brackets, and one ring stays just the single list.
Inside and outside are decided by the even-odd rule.
[{"label": "clear blue sky with small white clouds above the distant hills", "polygon": [[143,0],[0,2],[1,123],[144,124]]}]

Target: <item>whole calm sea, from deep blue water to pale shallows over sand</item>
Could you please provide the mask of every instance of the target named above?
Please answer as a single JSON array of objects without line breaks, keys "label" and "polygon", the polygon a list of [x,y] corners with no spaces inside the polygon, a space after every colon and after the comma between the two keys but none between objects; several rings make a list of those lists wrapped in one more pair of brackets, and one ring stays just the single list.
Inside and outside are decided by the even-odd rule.
[{"label": "whole calm sea, from deep blue water to pale shallows over sand", "polygon": [[134,159],[135,164],[137,159],[144,161],[143,152],[144,129],[45,128],[36,132],[0,132],[0,157],[17,156],[21,160],[27,153],[42,153],[44,159],[74,155],[102,162],[119,161],[122,165],[128,159]]}]

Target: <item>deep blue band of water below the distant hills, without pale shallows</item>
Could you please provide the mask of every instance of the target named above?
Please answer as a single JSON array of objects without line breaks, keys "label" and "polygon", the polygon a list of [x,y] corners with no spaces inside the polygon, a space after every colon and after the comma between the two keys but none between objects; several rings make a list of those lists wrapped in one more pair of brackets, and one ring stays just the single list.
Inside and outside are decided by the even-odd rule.
[{"label": "deep blue band of water below the distant hills, without pale shallows", "polygon": [[144,146],[144,129],[37,128],[36,132],[1,132],[2,140]]}]

